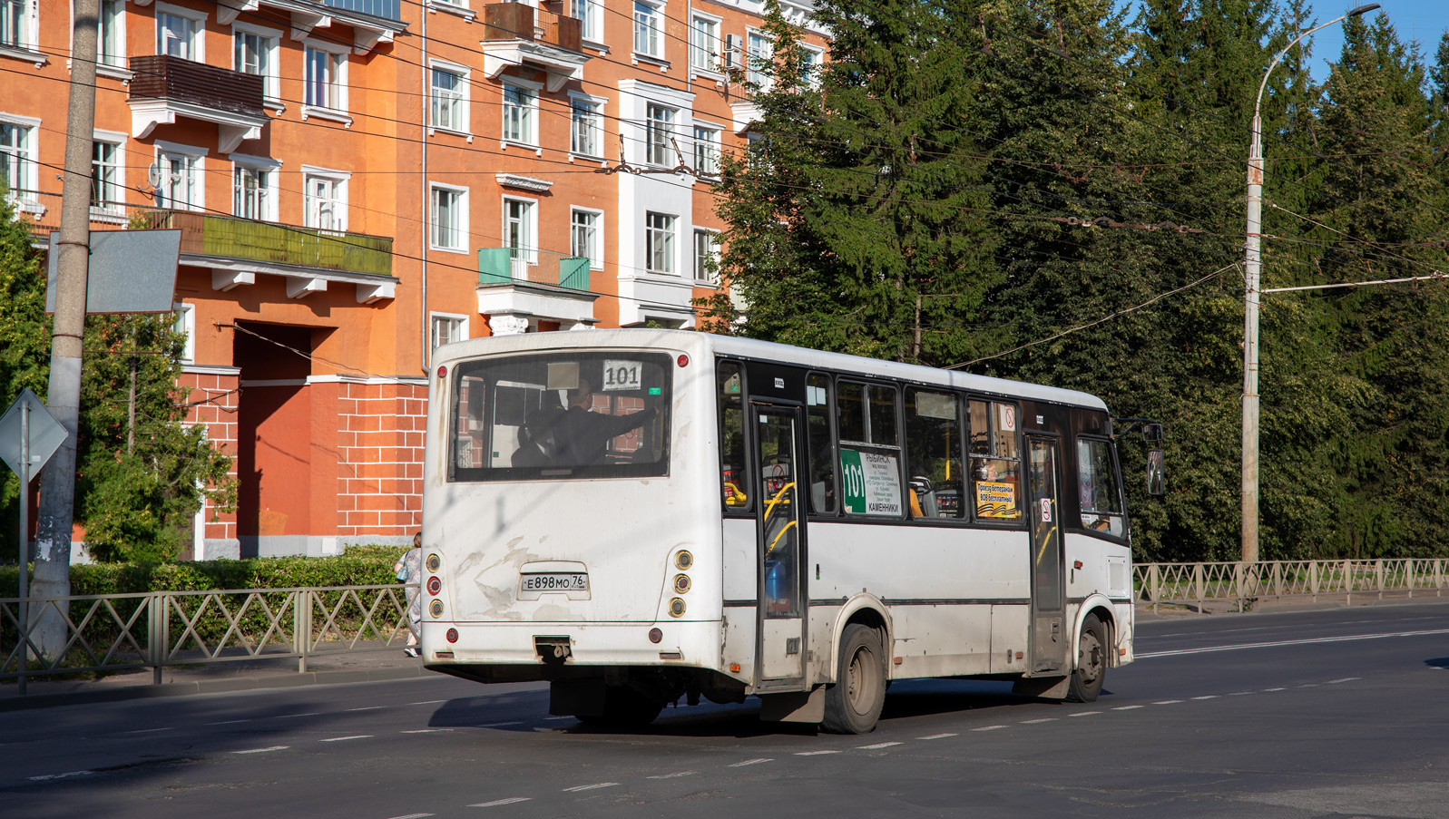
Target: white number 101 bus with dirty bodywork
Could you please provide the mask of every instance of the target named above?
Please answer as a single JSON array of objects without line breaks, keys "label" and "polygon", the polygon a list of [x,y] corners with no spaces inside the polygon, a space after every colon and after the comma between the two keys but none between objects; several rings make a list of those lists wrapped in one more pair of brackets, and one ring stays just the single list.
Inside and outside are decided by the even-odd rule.
[{"label": "white number 101 bus with dirty bodywork", "polygon": [[474,339],[433,367],[430,670],[546,680],[584,722],[758,696],[859,733],[891,680],[1085,702],[1132,661],[1097,397],[681,330]]}]

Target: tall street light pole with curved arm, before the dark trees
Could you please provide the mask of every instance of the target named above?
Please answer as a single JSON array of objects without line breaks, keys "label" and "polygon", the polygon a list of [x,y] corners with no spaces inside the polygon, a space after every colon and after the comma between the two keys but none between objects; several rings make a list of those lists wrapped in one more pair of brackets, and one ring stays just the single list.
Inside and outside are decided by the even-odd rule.
[{"label": "tall street light pole with curved arm, before the dark trees", "polygon": [[1258,100],[1253,103],[1253,138],[1248,148],[1248,242],[1243,257],[1243,274],[1248,280],[1248,296],[1243,310],[1243,562],[1258,562],[1258,299],[1262,283],[1262,212],[1264,212],[1264,90],[1268,77],[1282,62],[1282,58],[1303,38],[1326,29],[1333,23],[1366,14],[1378,9],[1378,3],[1359,6],[1342,17],[1335,17],[1321,26],[1314,26],[1293,42],[1282,46],[1278,57],[1264,71],[1258,84]]}]

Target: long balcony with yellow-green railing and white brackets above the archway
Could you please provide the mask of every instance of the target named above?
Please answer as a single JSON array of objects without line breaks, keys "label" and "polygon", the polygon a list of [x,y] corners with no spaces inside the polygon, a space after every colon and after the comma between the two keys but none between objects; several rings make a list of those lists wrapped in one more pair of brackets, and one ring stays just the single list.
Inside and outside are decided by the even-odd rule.
[{"label": "long balcony with yellow-green railing and white brackets above the archway", "polygon": [[356,286],[364,304],[391,299],[393,239],[194,210],[146,210],[143,228],[180,229],[181,264],[212,270],[214,290],[255,284],[256,275],[287,278],[287,296],[304,299],[329,283]]}]

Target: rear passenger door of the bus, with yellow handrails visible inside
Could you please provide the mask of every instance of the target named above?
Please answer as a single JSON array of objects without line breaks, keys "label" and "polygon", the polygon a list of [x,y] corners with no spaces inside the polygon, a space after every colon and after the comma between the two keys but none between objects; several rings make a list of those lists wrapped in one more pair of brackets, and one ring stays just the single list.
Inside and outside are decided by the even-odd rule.
[{"label": "rear passenger door of the bus, with yellow handrails visible inside", "polygon": [[752,404],[759,467],[759,651],[755,681],[759,690],[798,691],[804,686],[806,602],[800,567],[804,515],[800,487],[804,458],[800,410]]}]

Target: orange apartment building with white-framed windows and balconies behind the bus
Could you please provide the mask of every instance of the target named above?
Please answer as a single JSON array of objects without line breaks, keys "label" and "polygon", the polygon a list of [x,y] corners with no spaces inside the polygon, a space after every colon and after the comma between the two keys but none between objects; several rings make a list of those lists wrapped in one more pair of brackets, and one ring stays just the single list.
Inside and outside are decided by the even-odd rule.
[{"label": "orange apartment building with white-framed windows and balconies behind the bus", "polygon": [[[241,486],[191,557],[407,542],[438,344],[693,326],[714,291],[710,180],[768,81],[756,0],[100,7],[91,228],[181,229],[190,420]],[[70,30],[68,3],[0,0],[0,175],[38,232]]]}]

